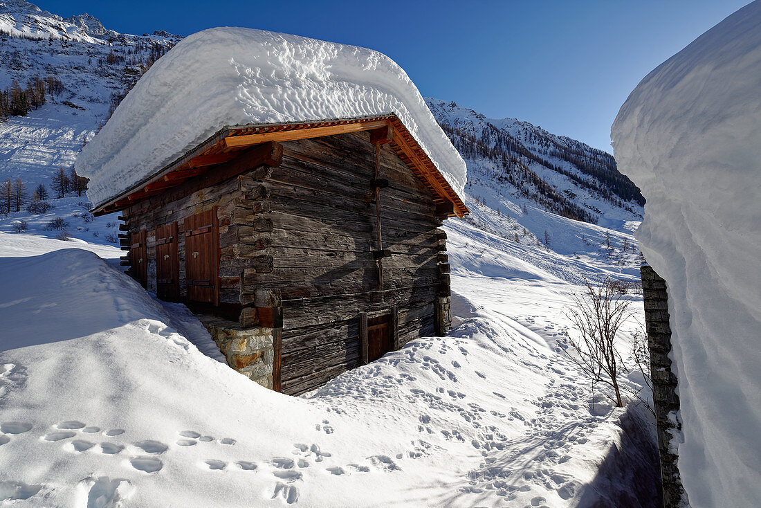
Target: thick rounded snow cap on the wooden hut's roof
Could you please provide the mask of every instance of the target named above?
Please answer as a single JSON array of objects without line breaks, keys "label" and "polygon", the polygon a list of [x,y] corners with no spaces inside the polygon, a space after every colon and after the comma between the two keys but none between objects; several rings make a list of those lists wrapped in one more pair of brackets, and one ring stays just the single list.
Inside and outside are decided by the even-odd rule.
[{"label": "thick rounded snow cap on the wooden hut's roof", "polygon": [[465,163],[393,60],[365,48],[247,28],[182,40],[127,94],[77,158],[100,204],[164,168],[223,126],[396,113],[462,193]]}]

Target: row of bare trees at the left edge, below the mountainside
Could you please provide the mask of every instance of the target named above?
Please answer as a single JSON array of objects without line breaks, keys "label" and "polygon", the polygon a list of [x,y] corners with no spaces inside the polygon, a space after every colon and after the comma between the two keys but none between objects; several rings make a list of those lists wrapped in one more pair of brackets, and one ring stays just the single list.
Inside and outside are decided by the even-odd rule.
[{"label": "row of bare trees at the left edge, below the mountainside", "polygon": [[77,196],[81,196],[85,190],[88,190],[88,179],[79,176],[74,168],[68,172],[64,168],[59,168],[53,174],[49,187],[39,184],[31,194],[21,178],[15,180],[7,178],[4,182],[0,182],[0,213],[21,212],[24,206],[28,212],[45,213],[53,208],[47,202],[53,196],[62,198],[66,196],[66,193],[76,193]]}]

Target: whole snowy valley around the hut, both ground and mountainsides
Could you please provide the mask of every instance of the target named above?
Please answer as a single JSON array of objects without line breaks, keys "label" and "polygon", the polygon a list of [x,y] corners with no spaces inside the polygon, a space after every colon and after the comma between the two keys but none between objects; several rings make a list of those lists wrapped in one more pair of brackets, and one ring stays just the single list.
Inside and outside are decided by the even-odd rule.
[{"label": "whole snowy valley around the hut, both ground and mountainsides", "polygon": [[[0,30],[0,89],[34,75],[65,88],[0,120],[0,181],[29,192],[73,167],[179,40],[23,0],[0,2]],[[605,152],[426,104],[468,171],[470,215],[444,223],[453,330],[298,398],[228,368],[183,305],[122,273],[116,214],[68,193],[0,216],[0,503],[654,506],[654,429],[632,395],[650,396],[632,359],[642,196]],[[635,311],[619,334],[623,408],[568,356],[573,297],[605,277]]]}]

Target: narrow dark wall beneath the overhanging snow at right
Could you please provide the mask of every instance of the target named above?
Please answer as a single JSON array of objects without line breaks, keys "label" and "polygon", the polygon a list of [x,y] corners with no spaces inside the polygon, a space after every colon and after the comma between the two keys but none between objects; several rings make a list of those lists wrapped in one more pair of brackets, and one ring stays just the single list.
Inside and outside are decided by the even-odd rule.
[{"label": "narrow dark wall beneath the overhanging snow at right", "polygon": [[669,451],[673,432],[680,432],[682,425],[676,418],[679,411],[677,376],[671,370],[671,327],[668,314],[666,281],[648,265],[640,268],[642,295],[645,300],[645,323],[648,331],[650,370],[653,382],[653,404],[658,423],[658,452],[661,455],[661,481],[663,482],[664,507],[682,506],[686,498],[677,467],[677,455]]}]

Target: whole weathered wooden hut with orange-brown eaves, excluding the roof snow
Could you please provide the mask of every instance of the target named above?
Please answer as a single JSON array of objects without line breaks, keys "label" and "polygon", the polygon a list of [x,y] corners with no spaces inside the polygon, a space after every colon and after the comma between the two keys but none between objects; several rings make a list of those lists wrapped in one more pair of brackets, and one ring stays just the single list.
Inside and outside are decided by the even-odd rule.
[{"label": "whole weathered wooden hut with orange-brown eaves, excluding the roof snow", "polygon": [[96,215],[129,273],[286,394],[450,327],[457,193],[394,115],[221,129]]}]

